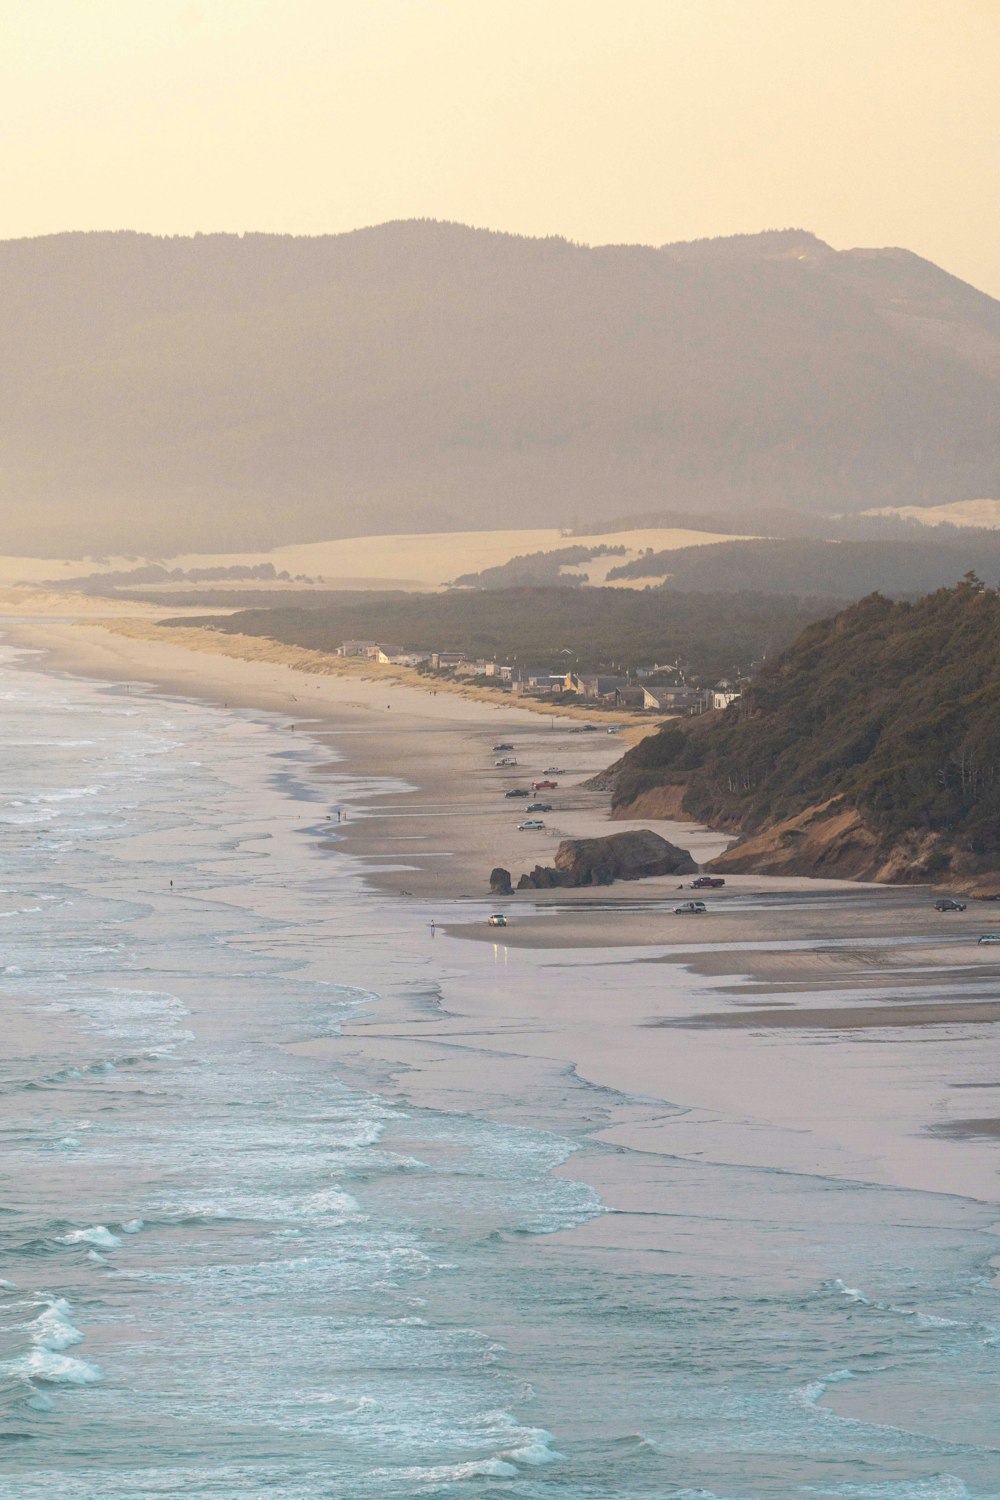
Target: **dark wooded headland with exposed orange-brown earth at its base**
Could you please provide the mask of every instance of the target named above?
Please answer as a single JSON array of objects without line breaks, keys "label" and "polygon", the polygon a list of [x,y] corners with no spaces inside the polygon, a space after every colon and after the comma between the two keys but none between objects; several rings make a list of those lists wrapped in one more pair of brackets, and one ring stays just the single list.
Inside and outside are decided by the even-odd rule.
[{"label": "dark wooded headland with exposed orange-brown earth at its base", "polygon": [[724,714],[631,750],[621,813],[670,789],[738,830],[729,868],[1000,872],[1000,594],[969,578],[810,626]]}]

